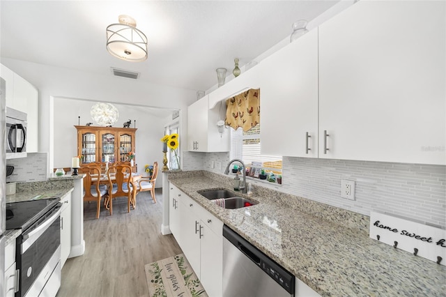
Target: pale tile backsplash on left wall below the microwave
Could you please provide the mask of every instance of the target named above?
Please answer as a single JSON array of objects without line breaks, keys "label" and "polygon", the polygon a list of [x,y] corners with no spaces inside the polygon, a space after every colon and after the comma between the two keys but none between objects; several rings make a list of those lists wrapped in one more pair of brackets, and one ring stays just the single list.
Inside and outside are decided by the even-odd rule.
[{"label": "pale tile backsplash on left wall below the microwave", "polygon": [[6,182],[46,181],[48,153],[27,153],[26,158],[8,159],[6,165],[13,165],[14,172],[6,176]]}]

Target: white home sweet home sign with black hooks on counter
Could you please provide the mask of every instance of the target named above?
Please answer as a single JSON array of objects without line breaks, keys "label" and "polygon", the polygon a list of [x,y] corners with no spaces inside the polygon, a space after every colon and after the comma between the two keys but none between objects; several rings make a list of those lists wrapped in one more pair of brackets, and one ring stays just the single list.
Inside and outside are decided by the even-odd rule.
[{"label": "white home sweet home sign with black hooks on counter", "polygon": [[446,230],[370,213],[370,238],[446,266]]}]

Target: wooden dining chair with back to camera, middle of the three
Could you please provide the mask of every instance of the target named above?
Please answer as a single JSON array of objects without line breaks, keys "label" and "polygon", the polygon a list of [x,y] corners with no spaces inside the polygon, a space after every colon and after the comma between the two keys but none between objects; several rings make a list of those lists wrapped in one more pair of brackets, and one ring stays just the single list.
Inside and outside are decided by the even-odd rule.
[{"label": "wooden dining chair with back to camera, middle of the three", "polygon": [[130,203],[132,201],[132,167],[128,165],[112,165],[107,171],[109,179],[109,195],[107,199],[107,207],[110,214],[113,214],[113,198],[127,197],[128,212],[130,213]]}]

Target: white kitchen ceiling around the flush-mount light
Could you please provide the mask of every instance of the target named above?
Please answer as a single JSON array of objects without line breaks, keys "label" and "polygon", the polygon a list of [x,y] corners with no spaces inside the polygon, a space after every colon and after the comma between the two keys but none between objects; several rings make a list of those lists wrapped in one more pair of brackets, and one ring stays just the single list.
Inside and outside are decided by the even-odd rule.
[{"label": "white kitchen ceiling around the flush-mount light", "polygon": [[[297,20],[313,20],[337,1],[0,1],[1,57],[192,90],[217,84],[287,38]],[[148,37],[148,59],[121,61],[106,48],[105,28],[130,15]]]}]

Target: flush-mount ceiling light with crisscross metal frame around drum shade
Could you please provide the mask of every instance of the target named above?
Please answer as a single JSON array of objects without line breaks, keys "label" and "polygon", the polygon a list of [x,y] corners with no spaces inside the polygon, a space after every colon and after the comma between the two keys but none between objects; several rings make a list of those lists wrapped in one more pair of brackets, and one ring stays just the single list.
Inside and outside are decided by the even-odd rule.
[{"label": "flush-mount ceiling light with crisscross metal frame around drum shade", "polygon": [[118,20],[119,24],[107,26],[107,50],[125,61],[145,61],[147,37],[136,28],[137,22],[132,17],[120,15]]}]

